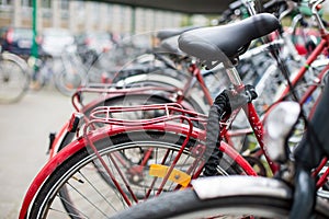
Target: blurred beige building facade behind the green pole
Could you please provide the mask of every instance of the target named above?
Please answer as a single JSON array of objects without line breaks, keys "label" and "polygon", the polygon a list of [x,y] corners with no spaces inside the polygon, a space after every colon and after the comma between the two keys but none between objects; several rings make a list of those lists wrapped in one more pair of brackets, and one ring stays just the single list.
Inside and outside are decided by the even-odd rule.
[{"label": "blurred beige building facade behind the green pole", "polygon": [[[33,0],[0,0],[0,26],[32,27]],[[36,0],[37,30],[144,33],[181,26],[184,14],[81,0]]]}]

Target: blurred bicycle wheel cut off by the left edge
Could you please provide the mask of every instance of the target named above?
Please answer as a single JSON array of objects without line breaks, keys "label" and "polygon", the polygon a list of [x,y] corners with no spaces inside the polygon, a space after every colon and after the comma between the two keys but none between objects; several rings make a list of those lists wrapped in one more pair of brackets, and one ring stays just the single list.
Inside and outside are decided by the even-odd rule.
[{"label": "blurred bicycle wheel cut off by the left edge", "polygon": [[30,74],[26,62],[13,55],[0,55],[0,103],[19,102],[30,85]]}]

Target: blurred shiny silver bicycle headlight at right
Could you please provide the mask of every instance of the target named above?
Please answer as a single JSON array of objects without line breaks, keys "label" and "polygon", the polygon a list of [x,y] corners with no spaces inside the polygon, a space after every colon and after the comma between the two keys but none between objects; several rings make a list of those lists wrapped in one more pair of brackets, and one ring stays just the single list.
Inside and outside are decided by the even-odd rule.
[{"label": "blurred shiny silver bicycle headlight at right", "polygon": [[296,102],[281,102],[269,113],[264,123],[264,143],[268,155],[279,163],[287,160],[287,138],[300,114]]}]

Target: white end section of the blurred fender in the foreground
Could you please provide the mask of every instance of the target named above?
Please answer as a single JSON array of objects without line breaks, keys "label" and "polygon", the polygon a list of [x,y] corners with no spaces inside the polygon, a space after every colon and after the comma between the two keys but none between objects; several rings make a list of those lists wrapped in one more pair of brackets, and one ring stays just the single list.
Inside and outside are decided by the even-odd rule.
[{"label": "white end section of the blurred fender in the foreground", "polygon": [[200,199],[241,195],[270,196],[292,199],[291,187],[274,178],[262,176],[230,175],[209,176],[191,182]]}]

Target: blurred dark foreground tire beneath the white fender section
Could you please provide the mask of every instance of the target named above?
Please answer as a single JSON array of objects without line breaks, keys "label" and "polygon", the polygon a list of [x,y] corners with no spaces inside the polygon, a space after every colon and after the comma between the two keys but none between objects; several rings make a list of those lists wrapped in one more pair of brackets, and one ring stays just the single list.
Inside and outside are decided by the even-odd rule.
[{"label": "blurred dark foreground tire beneath the white fender section", "polygon": [[[291,203],[258,194],[202,200],[193,189],[184,189],[148,199],[111,219],[287,218]],[[328,218],[328,211],[316,211],[314,218]]]}]

